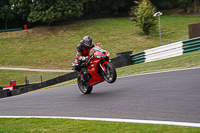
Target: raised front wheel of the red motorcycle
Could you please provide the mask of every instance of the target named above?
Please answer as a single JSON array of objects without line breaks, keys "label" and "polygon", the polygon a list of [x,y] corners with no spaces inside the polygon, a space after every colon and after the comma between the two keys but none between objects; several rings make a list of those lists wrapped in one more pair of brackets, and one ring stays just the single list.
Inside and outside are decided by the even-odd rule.
[{"label": "raised front wheel of the red motorcycle", "polygon": [[112,63],[108,62],[105,64],[105,68],[106,68],[106,71],[104,72],[103,78],[108,83],[114,83],[117,78],[117,72],[115,70],[115,67],[113,66]]}]

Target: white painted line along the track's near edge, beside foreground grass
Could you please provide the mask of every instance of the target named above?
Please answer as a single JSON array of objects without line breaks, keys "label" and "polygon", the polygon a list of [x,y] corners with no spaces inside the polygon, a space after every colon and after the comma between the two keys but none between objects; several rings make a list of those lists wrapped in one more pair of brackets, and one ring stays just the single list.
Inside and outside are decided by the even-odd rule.
[{"label": "white painted line along the track's near edge, beside foreground grass", "polygon": [[75,119],[75,120],[95,120],[111,122],[128,122],[141,124],[162,124],[173,126],[200,127],[200,123],[173,122],[173,121],[154,121],[154,120],[136,120],[136,119],[113,119],[113,118],[89,118],[89,117],[59,117],[59,116],[0,116],[0,118],[51,118],[51,119]]}]

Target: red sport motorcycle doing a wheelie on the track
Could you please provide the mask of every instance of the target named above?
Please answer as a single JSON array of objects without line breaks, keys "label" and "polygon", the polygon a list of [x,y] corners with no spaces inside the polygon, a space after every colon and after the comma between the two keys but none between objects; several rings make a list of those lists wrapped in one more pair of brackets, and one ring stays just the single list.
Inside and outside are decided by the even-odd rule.
[{"label": "red sport motorcycle doing a wheelie on the track", "polygon": [[[82,93],[91,93],[93,86],[103,81],[107,81],[108,83],[116,81],[117,73],[109,60],[109,55],[110,53],[100,48],[100,45],[90,50],[89,57],[85,63],[81,64],[81,67],[85,67],[86,69],[81,70],[77,78],[77,84]],[[72,67],[75,70],[74,62],[72,63]],[[85,81],[81,80],[82,77],[84,77]]]}]

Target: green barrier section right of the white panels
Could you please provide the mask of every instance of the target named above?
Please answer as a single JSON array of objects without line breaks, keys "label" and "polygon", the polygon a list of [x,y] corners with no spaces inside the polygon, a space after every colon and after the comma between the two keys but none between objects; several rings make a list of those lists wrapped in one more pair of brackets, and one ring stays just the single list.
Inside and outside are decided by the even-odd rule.
[{"label": "green barrier section right of the white panels", "polygon": [[200,51],[200,37],[183,41],[183,53]]}]

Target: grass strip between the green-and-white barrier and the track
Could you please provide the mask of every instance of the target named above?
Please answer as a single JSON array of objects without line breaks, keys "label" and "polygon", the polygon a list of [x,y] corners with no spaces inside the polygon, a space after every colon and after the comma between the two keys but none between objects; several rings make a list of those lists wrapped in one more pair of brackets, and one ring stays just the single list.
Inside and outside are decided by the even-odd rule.
[{"label": "grass strip between the green-and-white barrier and the track", "polygon": [[119,76],[200,67],[200,51],[117,69]]}]

